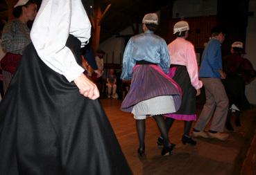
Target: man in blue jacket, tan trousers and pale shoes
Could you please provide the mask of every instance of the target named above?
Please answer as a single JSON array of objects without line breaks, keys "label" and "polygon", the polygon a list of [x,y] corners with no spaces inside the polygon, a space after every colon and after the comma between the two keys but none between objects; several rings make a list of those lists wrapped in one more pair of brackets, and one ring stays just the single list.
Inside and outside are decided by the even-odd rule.
[{"label": "man in blue jacket, tan trousers and pale shoes", "polygon": [[[203,138],[217,138],[226,140],[228,133],[223,133],[228,114],[228,96],[221,79],[225,79],[222,70],[221,44],[224,42],[225,33],[221,26],[212,28],[212,38],[205,46],[200,64],[199,77],[205,87],[206,101],[203,110],[194,125],[193,135]],[[212,118],[209,131],[204,131]]]}]

